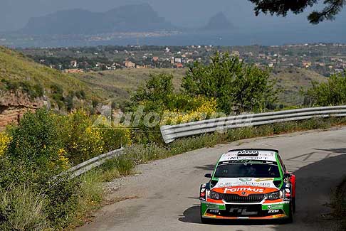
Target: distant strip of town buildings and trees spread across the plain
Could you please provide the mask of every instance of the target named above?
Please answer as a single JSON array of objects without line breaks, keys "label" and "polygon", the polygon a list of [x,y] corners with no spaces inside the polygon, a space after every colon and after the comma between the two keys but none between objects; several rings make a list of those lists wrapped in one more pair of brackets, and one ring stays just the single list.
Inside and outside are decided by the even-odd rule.
[{"label": "distant strip of town buildings and trees spread across the plain", "polygon": [[[111,46],[98,48],[23,49],[36,62],[65,72],[117,70],[122,68],[186,68],[194,62],[210,63],[211,56],[228,52],[244,63],[266,68],[307,68],[329,76],[346,69],[345,44],[293,44],[273,46],[213,47]],[[43,55],[42,55],[43,54]],[[73,55],[71,55],[73,54]]]}]

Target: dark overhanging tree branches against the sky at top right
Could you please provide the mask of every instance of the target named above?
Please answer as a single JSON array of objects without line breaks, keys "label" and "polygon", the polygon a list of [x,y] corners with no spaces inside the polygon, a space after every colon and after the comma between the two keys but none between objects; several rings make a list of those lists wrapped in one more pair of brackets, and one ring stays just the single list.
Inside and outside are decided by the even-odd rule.
[{"label": "dark overhanging tree branches against the sky at top right", "polygon": [[[293,14],[300,14],[305,11],[308,6],[318,4],[318,0],[248,0],[255,4],[256,16],[263,12],[264,14],[276,14],[277,16],[286,16],[288,11]],[[310,23],[318,24],[324,20],[333,20],[340,13],[346,0],[324,0],[325,6],[321,11],[313,11],[308,16]]]}]

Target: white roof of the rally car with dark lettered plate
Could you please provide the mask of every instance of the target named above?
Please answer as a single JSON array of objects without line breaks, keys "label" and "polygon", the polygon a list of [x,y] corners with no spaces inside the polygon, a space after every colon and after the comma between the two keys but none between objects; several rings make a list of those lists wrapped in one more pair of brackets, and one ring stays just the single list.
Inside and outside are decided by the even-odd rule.
[{"label": "white roof of the rally car with dark lettered plate", "polygon": [[276,162],[276,154],[278,154],[278,150],[275,149],[232,149],[226,154],[222,154],[219,162],[231,160],[263,160]]}]

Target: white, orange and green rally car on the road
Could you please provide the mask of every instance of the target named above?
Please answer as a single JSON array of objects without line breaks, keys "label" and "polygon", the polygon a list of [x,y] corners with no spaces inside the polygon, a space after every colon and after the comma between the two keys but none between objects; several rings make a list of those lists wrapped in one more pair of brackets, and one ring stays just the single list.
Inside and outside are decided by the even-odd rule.
[{"label": "white, orange and green rally car on the road", "polygon": [[293,222],[295,176],[278,150],[234,149],[221,155],[201,185],[201,222],[214,219],[285,219]]}]

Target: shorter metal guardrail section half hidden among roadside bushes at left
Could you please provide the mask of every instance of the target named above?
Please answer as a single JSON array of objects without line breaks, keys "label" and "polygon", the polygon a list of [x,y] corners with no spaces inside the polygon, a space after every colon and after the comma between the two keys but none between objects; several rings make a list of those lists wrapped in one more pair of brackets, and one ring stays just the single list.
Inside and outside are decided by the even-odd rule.
[{"label": "shorter metal guardrail section half hidden among roadside bushes at left", "polygon": [[80,176],[83,173],[86,173],[87,171],[90,171],[91,169],[100,166],[101,164],[105,163],[108,159],[115,158],[116,156],[120,156],[123,154],[124,149],[117,149],[115,151],[110,151],[107,154],[102,154],[100,156],[96,156],[88,161],[85,161],[83,163],[80,163],[76,166],[73,166],[72,168],[69,168],[67,171],[59,174],[58,176],[61,176],[66,173],[70,173],[70,179],[75,178],[77,176]]}]

